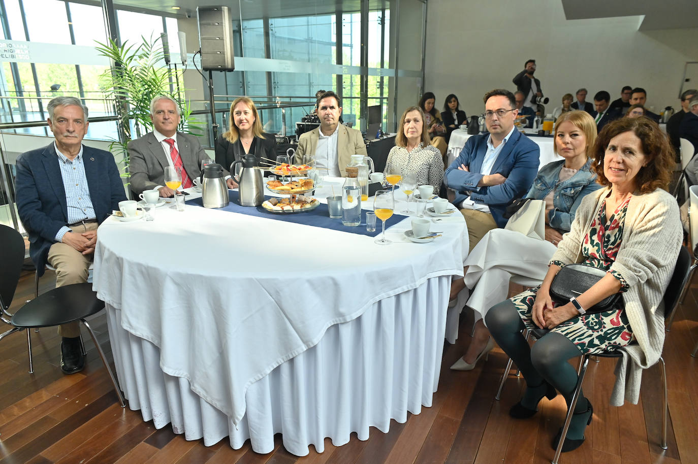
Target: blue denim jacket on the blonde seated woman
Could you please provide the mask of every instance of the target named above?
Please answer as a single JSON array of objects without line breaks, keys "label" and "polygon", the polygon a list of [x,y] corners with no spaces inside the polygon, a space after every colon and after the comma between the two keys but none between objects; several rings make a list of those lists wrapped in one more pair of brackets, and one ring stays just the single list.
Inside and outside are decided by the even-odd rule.
[{"label": "blue denim jacket on the blonde seated woman", "polygon": [[553,209],[548,212],[548,225],[560,232],[570,232],[574,213],[581,204],[584,195],[601,188],[596,181],[596,173],[591,170],[591,158],[586,164],[566,181],[557,187],[560,178],[560,170],[565,165],[565,160],[553,161],[544,165],[533,180],[533,186],[526,194],[526,198],[543,200],[550,190],[555,190],[553,197]]}]

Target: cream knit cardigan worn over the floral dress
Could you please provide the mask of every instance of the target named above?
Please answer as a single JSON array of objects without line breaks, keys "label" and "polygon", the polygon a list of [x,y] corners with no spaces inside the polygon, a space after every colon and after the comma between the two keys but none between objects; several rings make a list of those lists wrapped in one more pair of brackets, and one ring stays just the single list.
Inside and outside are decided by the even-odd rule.
[{"label": "cream knit cardigan worn over the floral dress", "polygon": [[[565,264],[581,262],[584,236],[591,229],[609,187],[584,197],[572,229],[563,236],[552,260]],[[662,189],[641,195],[634,193],[628,204],[623,239],[611,270],[628,283],[623,294],[625,314],[637,343],[621,350],[616,364],[616,384],[611,404],[623,400],[637,404],[642,370],[655,364],[664,345],[664,290],[674,273],[678,251],[683,242],[683,228],[674,197]]]}]

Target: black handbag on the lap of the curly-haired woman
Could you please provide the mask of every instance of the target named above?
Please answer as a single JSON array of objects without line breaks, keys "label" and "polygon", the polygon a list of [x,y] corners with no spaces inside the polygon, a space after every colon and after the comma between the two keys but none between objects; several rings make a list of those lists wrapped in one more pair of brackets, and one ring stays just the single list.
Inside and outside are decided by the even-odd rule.
[{"label": "black handbag on the lap of the curly-haired woman", "polygon": [[[550,284],[550,298],[558,304],[567,304],[572,297],[579,297],[605,275],[606,271],[597,267],[568,264],[555,274]],[[586,308],[586,313],[603,313],[613,309],[622,301],[621,292],[618,292],[602,299],[591,308]]]}]

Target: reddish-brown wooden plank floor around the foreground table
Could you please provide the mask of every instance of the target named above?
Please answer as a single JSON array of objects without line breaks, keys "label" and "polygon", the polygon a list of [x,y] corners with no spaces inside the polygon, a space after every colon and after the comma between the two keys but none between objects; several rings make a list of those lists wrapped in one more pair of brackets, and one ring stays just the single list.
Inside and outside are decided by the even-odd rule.
[{"label": "reddish-brown wooden plank floor around the foreground table", "polygon": [[[698,278],[696,279],[698,280]],[[32,297],[33,275],[22,278],[16,308]],[[42,285],[52,286],[50,276]],[[611,407],[613,361],[591,363],[585,392],[594,405],[594,420],[584,445],[563,455],[565,464],[698,463],[698,359],[690,352],[698,339],[698,284],[679,308],[667,334],[664,359],[669,381],[669,449],[659,446],[661,391],[658,369],[649,369],[638,405]],[[465,314],[465,313],[464,313]],[[469,343],[470,317],[461,317],[461,338],[446,345],[433,406],[409,415],[406,424],[392,422],[389,433],[371,428],[362,442],[334,447],[297,458],[285,451],[281,436],[270,454],[255,454],[249,442],[232,449],[224,439],[205,447],[188,442],[170,427],[156,430],[138,411],[122,409],[91,342],[82,373],[62,375],[59,338],[54,329],[32,332],[34,374],[27,373],[26,336],[22,332],[0,343],[0,464],[5,463],[549,463],[550,440],[565,413],[563,399],[544,400],[540,412],[524,421],[507,414],[523,380],[510,375],[501,401],[494,401],[507,361],[501,350],[470,372],[450,371]],[[106,318],[97,315],[93,327],[111,359]]]}]

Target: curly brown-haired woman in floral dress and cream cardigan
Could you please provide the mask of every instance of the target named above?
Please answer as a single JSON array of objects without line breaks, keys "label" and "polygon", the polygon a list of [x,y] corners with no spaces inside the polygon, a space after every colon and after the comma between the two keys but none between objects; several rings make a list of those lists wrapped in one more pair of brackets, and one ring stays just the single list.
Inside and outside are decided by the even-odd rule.
[{"label": "curly brown-haired woman in floral dress and cream cardigan", "polygon": [[[584,197],[542,285],[493,306],[485,317],[491,335],[526,379],[523,398],[510,410],[516,419],[533,416],[543,396],[552,399],[556,391],[570,405],[578,377],[567,360],[619,347],[623,357],[616,368],[611,404],[621,405],[624,399],[637,403],[641,371],[658,361],[662,352],[662,297],[683,241],[676,200],[664,190],[674,154],[653,121],[623,118],[604,127],[594,158],[598,182],[606,188]],[[577,301],[554,304],[550,284],[561,267],[572,263],[607,274]],[[617,292],[623,298],[616,308],[583,313]],[[550,331],[530,348],[521,330],[535,327]],[[592,416],[593,407],[582,393],[563,451],[584,442]],[[551,443],[554,449],[559,437],[560,432]]]}]

